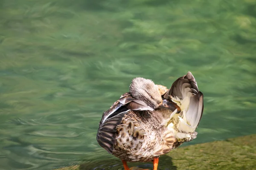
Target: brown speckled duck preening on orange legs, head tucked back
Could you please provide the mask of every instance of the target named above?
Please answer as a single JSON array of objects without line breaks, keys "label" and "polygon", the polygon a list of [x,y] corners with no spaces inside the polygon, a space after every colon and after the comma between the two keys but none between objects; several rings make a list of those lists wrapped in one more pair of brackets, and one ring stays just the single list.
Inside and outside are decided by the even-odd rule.
[{"label": "brown speckled duck preening on orange legs, head tucked back", "polygon": [[108,153],[126,161],[153,161],[195,139],[203,113],[203,94],[188,72],[168,90],[149,79],[135,78],[99,123],[97,141]]}]

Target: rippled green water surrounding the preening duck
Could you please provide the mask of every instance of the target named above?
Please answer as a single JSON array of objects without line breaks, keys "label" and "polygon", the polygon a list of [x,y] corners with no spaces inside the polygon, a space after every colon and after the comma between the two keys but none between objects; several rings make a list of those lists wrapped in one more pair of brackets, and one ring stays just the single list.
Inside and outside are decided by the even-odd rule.
[{"label": "rippled green water surrounding the preening duck", "polygon": [[103,111],[134,77],[187,71],[205,103],[189,144],[256,133],[256,0],[0,0],[0,170],[121,167]]}]

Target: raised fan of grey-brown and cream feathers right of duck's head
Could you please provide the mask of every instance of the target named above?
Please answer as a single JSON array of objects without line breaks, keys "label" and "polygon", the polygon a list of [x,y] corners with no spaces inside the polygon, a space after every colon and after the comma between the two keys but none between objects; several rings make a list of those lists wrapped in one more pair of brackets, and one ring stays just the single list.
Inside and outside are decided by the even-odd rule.
[{"label": "raised fan of grey-brown and cream feathers right of duck's head", "polygon": [[[191,72],[178,78],[163,96],[177,103],[183,114],[179,130],[194,132],[198,127],[204,110],[203,93],[198,90],[197,82]],[[186,124],[185,124],[186,123]]]}]

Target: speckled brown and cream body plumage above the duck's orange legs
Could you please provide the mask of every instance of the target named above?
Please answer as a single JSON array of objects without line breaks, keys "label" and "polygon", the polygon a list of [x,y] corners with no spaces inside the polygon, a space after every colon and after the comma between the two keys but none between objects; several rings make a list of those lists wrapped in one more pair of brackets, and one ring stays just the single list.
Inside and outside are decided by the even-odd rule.
[{"label": "speckled brown and cream body plumage above the duck's orange legs", "polygon": [[116,127],[113,155],[126,161],[152,161],[172,150],[176,138],[160,125],[161,109],[129,111]]}]

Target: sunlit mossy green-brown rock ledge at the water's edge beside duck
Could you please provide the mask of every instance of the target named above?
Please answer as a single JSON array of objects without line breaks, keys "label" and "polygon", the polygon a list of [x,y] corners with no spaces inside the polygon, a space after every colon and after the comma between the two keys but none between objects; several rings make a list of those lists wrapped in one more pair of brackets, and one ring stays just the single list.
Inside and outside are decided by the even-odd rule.
[{"label": "sunlit mossy green-brown rock ledge at the water's edge beside duck", "polygon": [[[121,170],[119,167],[112,169]],[[130,169],[141,170],[139,167]],[[159,170],[253,169],[256,169],[256,135],[180,147],[159,159]],[[58,170],[90,170],[90,168],[88,169],[86,164],[81,164]]]}]

